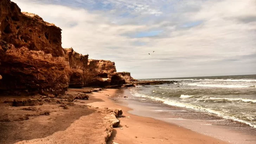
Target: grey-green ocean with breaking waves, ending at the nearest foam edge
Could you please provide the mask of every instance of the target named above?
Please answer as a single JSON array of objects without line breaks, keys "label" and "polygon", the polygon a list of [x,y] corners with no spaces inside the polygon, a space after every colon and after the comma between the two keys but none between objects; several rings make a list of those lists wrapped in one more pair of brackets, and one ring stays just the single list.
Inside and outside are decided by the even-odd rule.
[{"label": "grey-green ocean with breaking waves, ending at the nearest foam edge", "polygon": [[256,128],[256,75],[165,78],[174,84],[139,86],[134,97],[214,114]]}]

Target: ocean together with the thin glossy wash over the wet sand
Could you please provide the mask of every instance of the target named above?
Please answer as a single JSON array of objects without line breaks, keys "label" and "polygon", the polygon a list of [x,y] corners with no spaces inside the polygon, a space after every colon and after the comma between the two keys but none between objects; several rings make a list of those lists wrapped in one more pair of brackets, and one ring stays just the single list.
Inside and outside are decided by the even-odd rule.
[{"label": "ocean together with the thin glossy wash over the wet sand", "polygon": [[153,117],[234,144],[256,144],[256,75],[161,79],[120,99],[131,113]]}]

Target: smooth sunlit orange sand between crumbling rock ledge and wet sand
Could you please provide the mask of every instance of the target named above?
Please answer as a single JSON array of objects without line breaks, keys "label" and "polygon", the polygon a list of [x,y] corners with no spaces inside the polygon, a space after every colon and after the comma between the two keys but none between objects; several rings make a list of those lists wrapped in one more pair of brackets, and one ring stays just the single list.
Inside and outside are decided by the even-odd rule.
[{"label": "smooth sunlit orange sand between crumbling rock ledge and wet sand", "polygon": [[131,114],[129,113],[132,110],[131,108],[110,99],[111,97],[116,97],[116,91],[115,89],[107,89],[102,93],[94,93],[92,94],[92,99],[102,99],[103,102],[92,101],[92,103],[87,103],[87,105],[93,107],[121,108],[123,115],[126,116],[119,118],[121,120],[120,126],[113,129],[107,144],[113,142],[120,144],[228,144],[223,140],[206,136],[175,124]]}]

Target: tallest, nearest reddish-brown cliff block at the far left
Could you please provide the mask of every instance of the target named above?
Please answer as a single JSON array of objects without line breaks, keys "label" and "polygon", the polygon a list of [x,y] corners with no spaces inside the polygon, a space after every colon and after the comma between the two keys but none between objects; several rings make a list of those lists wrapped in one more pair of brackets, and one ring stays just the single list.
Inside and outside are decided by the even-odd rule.
[{"label": "tallest, nearest reddish-brown cliff block at the far left", "polygon": [[1,93],[62,94],[68,88],[61,29],[21,13],[9,0],[0,1],[0,60]]}]

